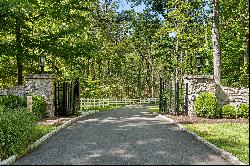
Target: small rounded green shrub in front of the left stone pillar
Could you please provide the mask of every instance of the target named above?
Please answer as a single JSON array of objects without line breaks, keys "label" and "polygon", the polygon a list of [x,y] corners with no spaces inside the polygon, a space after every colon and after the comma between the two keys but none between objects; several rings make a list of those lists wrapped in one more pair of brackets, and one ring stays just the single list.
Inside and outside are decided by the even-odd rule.
[{"label": "small rounded green shrub in front of the left stone pillar", "polygon": [[38,117],[46,116],[47,103],[42,96],[32,96],[32,112]]}]

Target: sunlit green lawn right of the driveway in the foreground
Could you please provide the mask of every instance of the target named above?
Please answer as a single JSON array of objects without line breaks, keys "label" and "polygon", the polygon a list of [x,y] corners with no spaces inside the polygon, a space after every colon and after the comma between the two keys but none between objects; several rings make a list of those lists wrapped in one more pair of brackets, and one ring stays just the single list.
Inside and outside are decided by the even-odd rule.
[{"label": "sunlit green lawn right of the driveway in the foreground", "polygon": [[249,125],[197,123],[185,127],[249,164]]}]

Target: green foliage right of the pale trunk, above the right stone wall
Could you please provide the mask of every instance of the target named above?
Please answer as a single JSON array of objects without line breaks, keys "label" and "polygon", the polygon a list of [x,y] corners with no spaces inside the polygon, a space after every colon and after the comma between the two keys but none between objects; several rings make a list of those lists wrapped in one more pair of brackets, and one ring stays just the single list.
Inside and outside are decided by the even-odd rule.
[{"label": "green foliage right of the pale trunk, above the right stone wall", "polygon": [[220,1],[221,75],[224,85],[248,87],[249,7],[247,3],[245,0]]}]

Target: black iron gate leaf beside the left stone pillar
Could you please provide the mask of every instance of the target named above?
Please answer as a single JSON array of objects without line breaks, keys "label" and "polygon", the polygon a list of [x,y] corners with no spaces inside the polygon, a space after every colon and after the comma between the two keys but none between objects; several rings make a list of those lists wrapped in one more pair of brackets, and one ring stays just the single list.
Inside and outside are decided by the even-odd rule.
[{"label": "black iron gate leaf beside the left stone pillar", "polygon": [[80,109],[79,81],[56,82],[54,85],[55,116],[70,116]]}]

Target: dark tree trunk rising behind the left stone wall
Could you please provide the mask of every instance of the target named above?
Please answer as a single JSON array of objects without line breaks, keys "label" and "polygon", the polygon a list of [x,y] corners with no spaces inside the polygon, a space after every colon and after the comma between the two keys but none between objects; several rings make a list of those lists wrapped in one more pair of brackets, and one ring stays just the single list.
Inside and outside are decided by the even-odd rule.
[{"label": "dark tree trunk rising behind the left stone wall", "polygon": [[21,25],[20,20],[16,18],[16,61],[17,61],[17,84],[23,84],[23,65],[22,65],[22,48],[21,48]]}]

